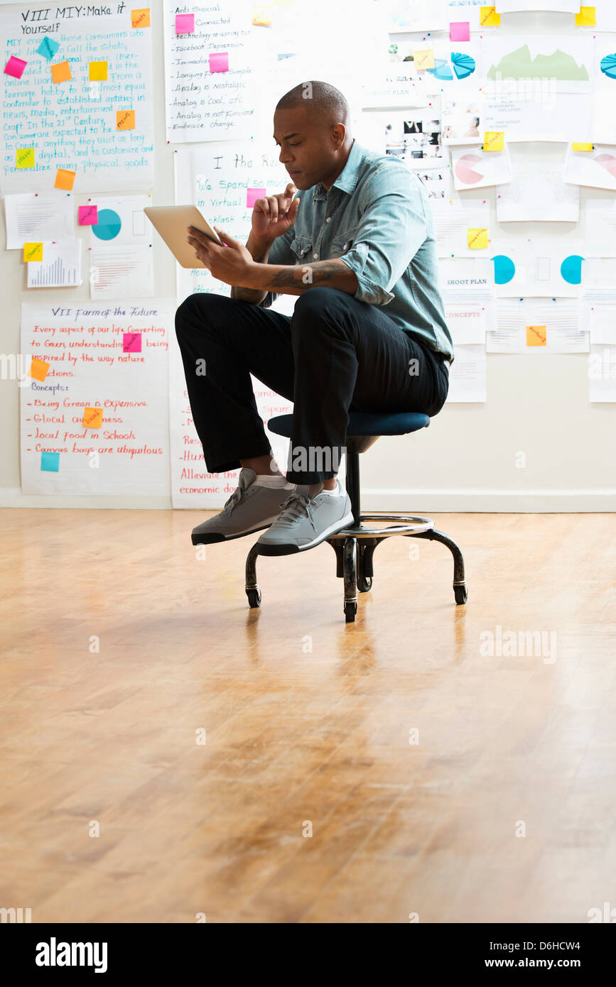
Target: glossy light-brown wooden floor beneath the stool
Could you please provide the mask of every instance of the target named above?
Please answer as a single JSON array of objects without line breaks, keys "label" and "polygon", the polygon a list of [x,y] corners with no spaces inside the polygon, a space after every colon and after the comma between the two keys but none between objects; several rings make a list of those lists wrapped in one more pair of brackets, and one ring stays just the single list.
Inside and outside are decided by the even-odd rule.
[{"label": "glossy light-brown wooden floor beneath the stool", "polygon": [[[260,558],[250,610],[257,536],[196,560],[206,516],[0,511],[0,907],[583,923],[616,906],[613,514],[434,515],[466,606],[444,546],[392,538],[348,625],[329,545]],[[557,649],[483,654],[498,628]]]}]

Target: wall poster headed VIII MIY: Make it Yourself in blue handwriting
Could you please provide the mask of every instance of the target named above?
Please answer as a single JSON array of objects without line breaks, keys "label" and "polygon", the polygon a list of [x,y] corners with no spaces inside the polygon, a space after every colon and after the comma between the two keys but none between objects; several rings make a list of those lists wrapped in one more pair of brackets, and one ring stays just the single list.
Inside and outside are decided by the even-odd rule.
[{"label": "wall poster headed VIII MIY: Make it Yourself in blue handwriting", "polygon": [[0,9],[2,194],[153,185],[151,38],[125,7]]}]

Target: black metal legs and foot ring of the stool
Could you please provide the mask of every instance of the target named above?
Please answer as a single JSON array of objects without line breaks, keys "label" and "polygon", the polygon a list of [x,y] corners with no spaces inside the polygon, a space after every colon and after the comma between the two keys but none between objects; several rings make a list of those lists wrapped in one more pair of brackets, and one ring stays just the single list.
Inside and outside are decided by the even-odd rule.
[{"label": "black metal legs and foot ring of the stool", "polygon": [[[356,518],[357,515],[355,515]],[[364,522],[371,522],[369,527]],[[387,527],[372,526],[375,521],[395,521]],[[446,545],[453,556],[453,592],[456,603],[466,603],[468,587],[464,580],[462,553],[448,535],[436,531],[429,517],[411,514],[360,514],[359,524],[343,528],[326,538],[336,553],[336,575],[345,580],[345,619],[352,623],[357,612],[357,592],[367,593],[372,588],[372,556],[377,545],[393,535],[405,538],[428,538]],[[246,560],[246,595],[251,608],[261,605],[261,589],[257,582],[257,556],[259,543],[255,543]]]}]

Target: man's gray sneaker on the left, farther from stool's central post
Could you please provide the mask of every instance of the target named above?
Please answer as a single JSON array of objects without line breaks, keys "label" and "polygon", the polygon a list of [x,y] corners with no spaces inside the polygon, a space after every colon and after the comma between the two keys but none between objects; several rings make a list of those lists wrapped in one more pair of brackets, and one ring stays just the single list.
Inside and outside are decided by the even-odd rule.
[{"label": "man's gray sneaker on the left, farther from stool's central post", "polygon": [[220,513],[192,529],[193,545],[229,542],[232,538],[242,538],[269,528],[280,513],[286,497],[295,490],[295,485],[287,482],[284,487],[259,487],[255,485],[256,479],[254,470],[243,467],[237,489]]}]

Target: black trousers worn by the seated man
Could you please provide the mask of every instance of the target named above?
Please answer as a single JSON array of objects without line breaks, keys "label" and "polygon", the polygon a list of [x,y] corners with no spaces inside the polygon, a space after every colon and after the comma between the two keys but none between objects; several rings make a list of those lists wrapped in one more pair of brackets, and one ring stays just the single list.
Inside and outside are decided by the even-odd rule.
[{"label": "black trousers worn by the seated man", "polygon": [[293,402],[286,477],[294,484],[336,476],[349,411],[431,418],[449,388],[441,354],[402,330],[383,307],[337,288],[307,288],[292,317],[198,292],[178,308],[176,335],[209,473],[272,454],[251,373]]}]

